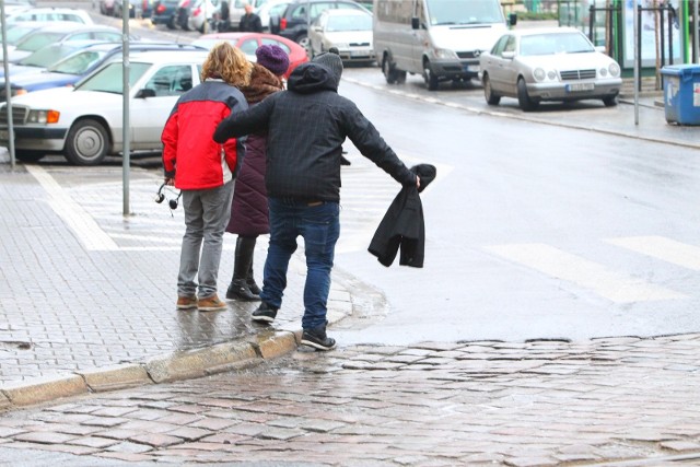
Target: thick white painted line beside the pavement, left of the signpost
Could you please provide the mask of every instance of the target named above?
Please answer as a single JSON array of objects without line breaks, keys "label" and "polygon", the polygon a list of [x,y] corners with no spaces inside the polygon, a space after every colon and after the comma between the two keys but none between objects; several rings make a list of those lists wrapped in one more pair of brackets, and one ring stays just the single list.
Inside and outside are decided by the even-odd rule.
[{"label": "thick white painted line beside the pavement, left of the signpost", "polygon": [[25,165],[26,170],[38,180],[49,195],[49,205],[56,213],[73,231],[78,240],[90,252],[119,249],[95,220],[75,201],[44,168],[38,165]]}]

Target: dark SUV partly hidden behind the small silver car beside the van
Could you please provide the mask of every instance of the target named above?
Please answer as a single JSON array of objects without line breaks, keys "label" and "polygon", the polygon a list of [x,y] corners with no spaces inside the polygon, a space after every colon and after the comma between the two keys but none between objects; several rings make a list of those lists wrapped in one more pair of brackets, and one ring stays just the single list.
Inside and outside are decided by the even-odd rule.
[{"label": "dark SUV partly hidden behind the small silver car beside the van", "polygon": [[[353,0],[295,0],[279,17],[270,17],[270,32],[294,40],[308,49],[308,25],[324,11],[330,9],[365,10]],[[308,11],[311,10],[311,17]]]}]

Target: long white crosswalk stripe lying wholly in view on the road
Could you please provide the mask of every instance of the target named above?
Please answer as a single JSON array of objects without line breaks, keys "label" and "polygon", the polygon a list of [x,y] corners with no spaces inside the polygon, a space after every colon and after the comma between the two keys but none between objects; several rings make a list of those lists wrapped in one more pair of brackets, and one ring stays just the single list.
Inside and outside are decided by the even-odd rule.
[{"label": "long white crosswalk stripe lying wholly in view on the road", "polygon": [[548,276],[591,289],[616,303],[686,297],[681,293],[609,270],[603,265],[550,245],[537,243],[494,245],[486,249]]}]

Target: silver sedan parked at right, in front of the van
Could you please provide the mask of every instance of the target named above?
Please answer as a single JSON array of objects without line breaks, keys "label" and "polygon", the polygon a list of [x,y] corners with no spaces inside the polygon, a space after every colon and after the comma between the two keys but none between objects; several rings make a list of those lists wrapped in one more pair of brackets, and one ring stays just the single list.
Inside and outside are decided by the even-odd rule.
[{"label": "silver sedan parked at right, in front of the van", "polygon": [[572,27],[510,31],[479,58],[487,103],[515,97],[534,110],[542,101],[599,98],[617,105],[620,66]]}]

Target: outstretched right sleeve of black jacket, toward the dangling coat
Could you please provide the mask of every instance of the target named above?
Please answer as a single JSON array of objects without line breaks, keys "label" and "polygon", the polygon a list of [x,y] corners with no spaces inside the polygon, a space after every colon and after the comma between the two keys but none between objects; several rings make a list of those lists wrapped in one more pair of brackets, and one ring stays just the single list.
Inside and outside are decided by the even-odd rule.
[{"label": "outstretched right sleeve of black jacket, toward the dangling coat", "polygon": [[374,162],[401,185],[415,185],[416,174],[404,164],[394,150],[384,141],[380,132],[360,109],[351,102],[345,109],[347,115],[342,119],[350,141],[360,150],[362,155]]}]

